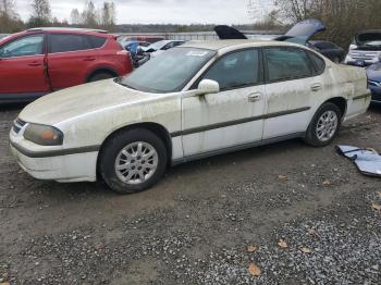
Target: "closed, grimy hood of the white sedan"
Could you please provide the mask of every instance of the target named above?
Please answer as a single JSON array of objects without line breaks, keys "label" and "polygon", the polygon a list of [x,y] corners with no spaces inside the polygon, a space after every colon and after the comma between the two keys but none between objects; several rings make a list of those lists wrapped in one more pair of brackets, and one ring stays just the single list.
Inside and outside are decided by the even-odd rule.
[{"label": "closed, grimy hood of the white sedan", "polygon": [[151,97],[149,94],[126,88],[114,79],[107,79],[44,96],[28,104],[20,113],[20,119],[28,123],[56,125]]}]

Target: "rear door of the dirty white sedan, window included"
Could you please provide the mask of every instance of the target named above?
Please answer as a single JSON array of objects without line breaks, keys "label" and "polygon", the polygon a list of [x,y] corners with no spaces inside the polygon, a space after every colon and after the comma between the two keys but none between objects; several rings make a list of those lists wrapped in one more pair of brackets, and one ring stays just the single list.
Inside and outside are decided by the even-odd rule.
[{"label": "rear door of the dirty white sedan, window included", "polygon": [[304,133],[323,98],[323,76],[299,48],[263,49],[267,110],[263,139]]}]

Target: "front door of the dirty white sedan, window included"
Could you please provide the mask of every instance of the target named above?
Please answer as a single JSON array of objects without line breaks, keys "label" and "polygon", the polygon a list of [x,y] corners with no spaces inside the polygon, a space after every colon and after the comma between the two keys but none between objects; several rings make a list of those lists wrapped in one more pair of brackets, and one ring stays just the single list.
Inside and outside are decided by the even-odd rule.
[{"label": "front door of the dirty white sedan, window included", "polygon": [[199,78],[218,82],[220,92],[183,99],[184,157],[261,140],[266,94],[259,59],[256,49],[223,55]]}]

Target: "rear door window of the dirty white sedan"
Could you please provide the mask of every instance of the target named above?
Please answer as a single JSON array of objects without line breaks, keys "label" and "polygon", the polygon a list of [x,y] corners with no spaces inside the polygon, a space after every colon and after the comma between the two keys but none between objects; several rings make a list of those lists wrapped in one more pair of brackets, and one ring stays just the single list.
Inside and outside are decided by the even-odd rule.
[{"label": "rear door window of the dirty white sedan", "polygon": [[314,74],[314,66],[302,49],[268,48],[265,49],[265,61],[269,82],[292,80]]}]

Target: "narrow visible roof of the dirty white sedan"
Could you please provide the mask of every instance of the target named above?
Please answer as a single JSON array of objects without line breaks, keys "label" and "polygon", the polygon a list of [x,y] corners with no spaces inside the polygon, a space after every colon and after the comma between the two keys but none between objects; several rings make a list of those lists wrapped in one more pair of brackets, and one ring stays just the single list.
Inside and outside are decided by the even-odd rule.
[{"label": "narrow visible roof of the dirty white sedan", "polygon": [[[194,40],[187,41],[182,48],[198,48],[220,51],[223,49],[237,49],[247,47],[304,47],[297,44],[276,41],[276,40],[250,40],[250,39],[225,39],[225,40]],[[305,48],[305,47],[304,47]]]}]

